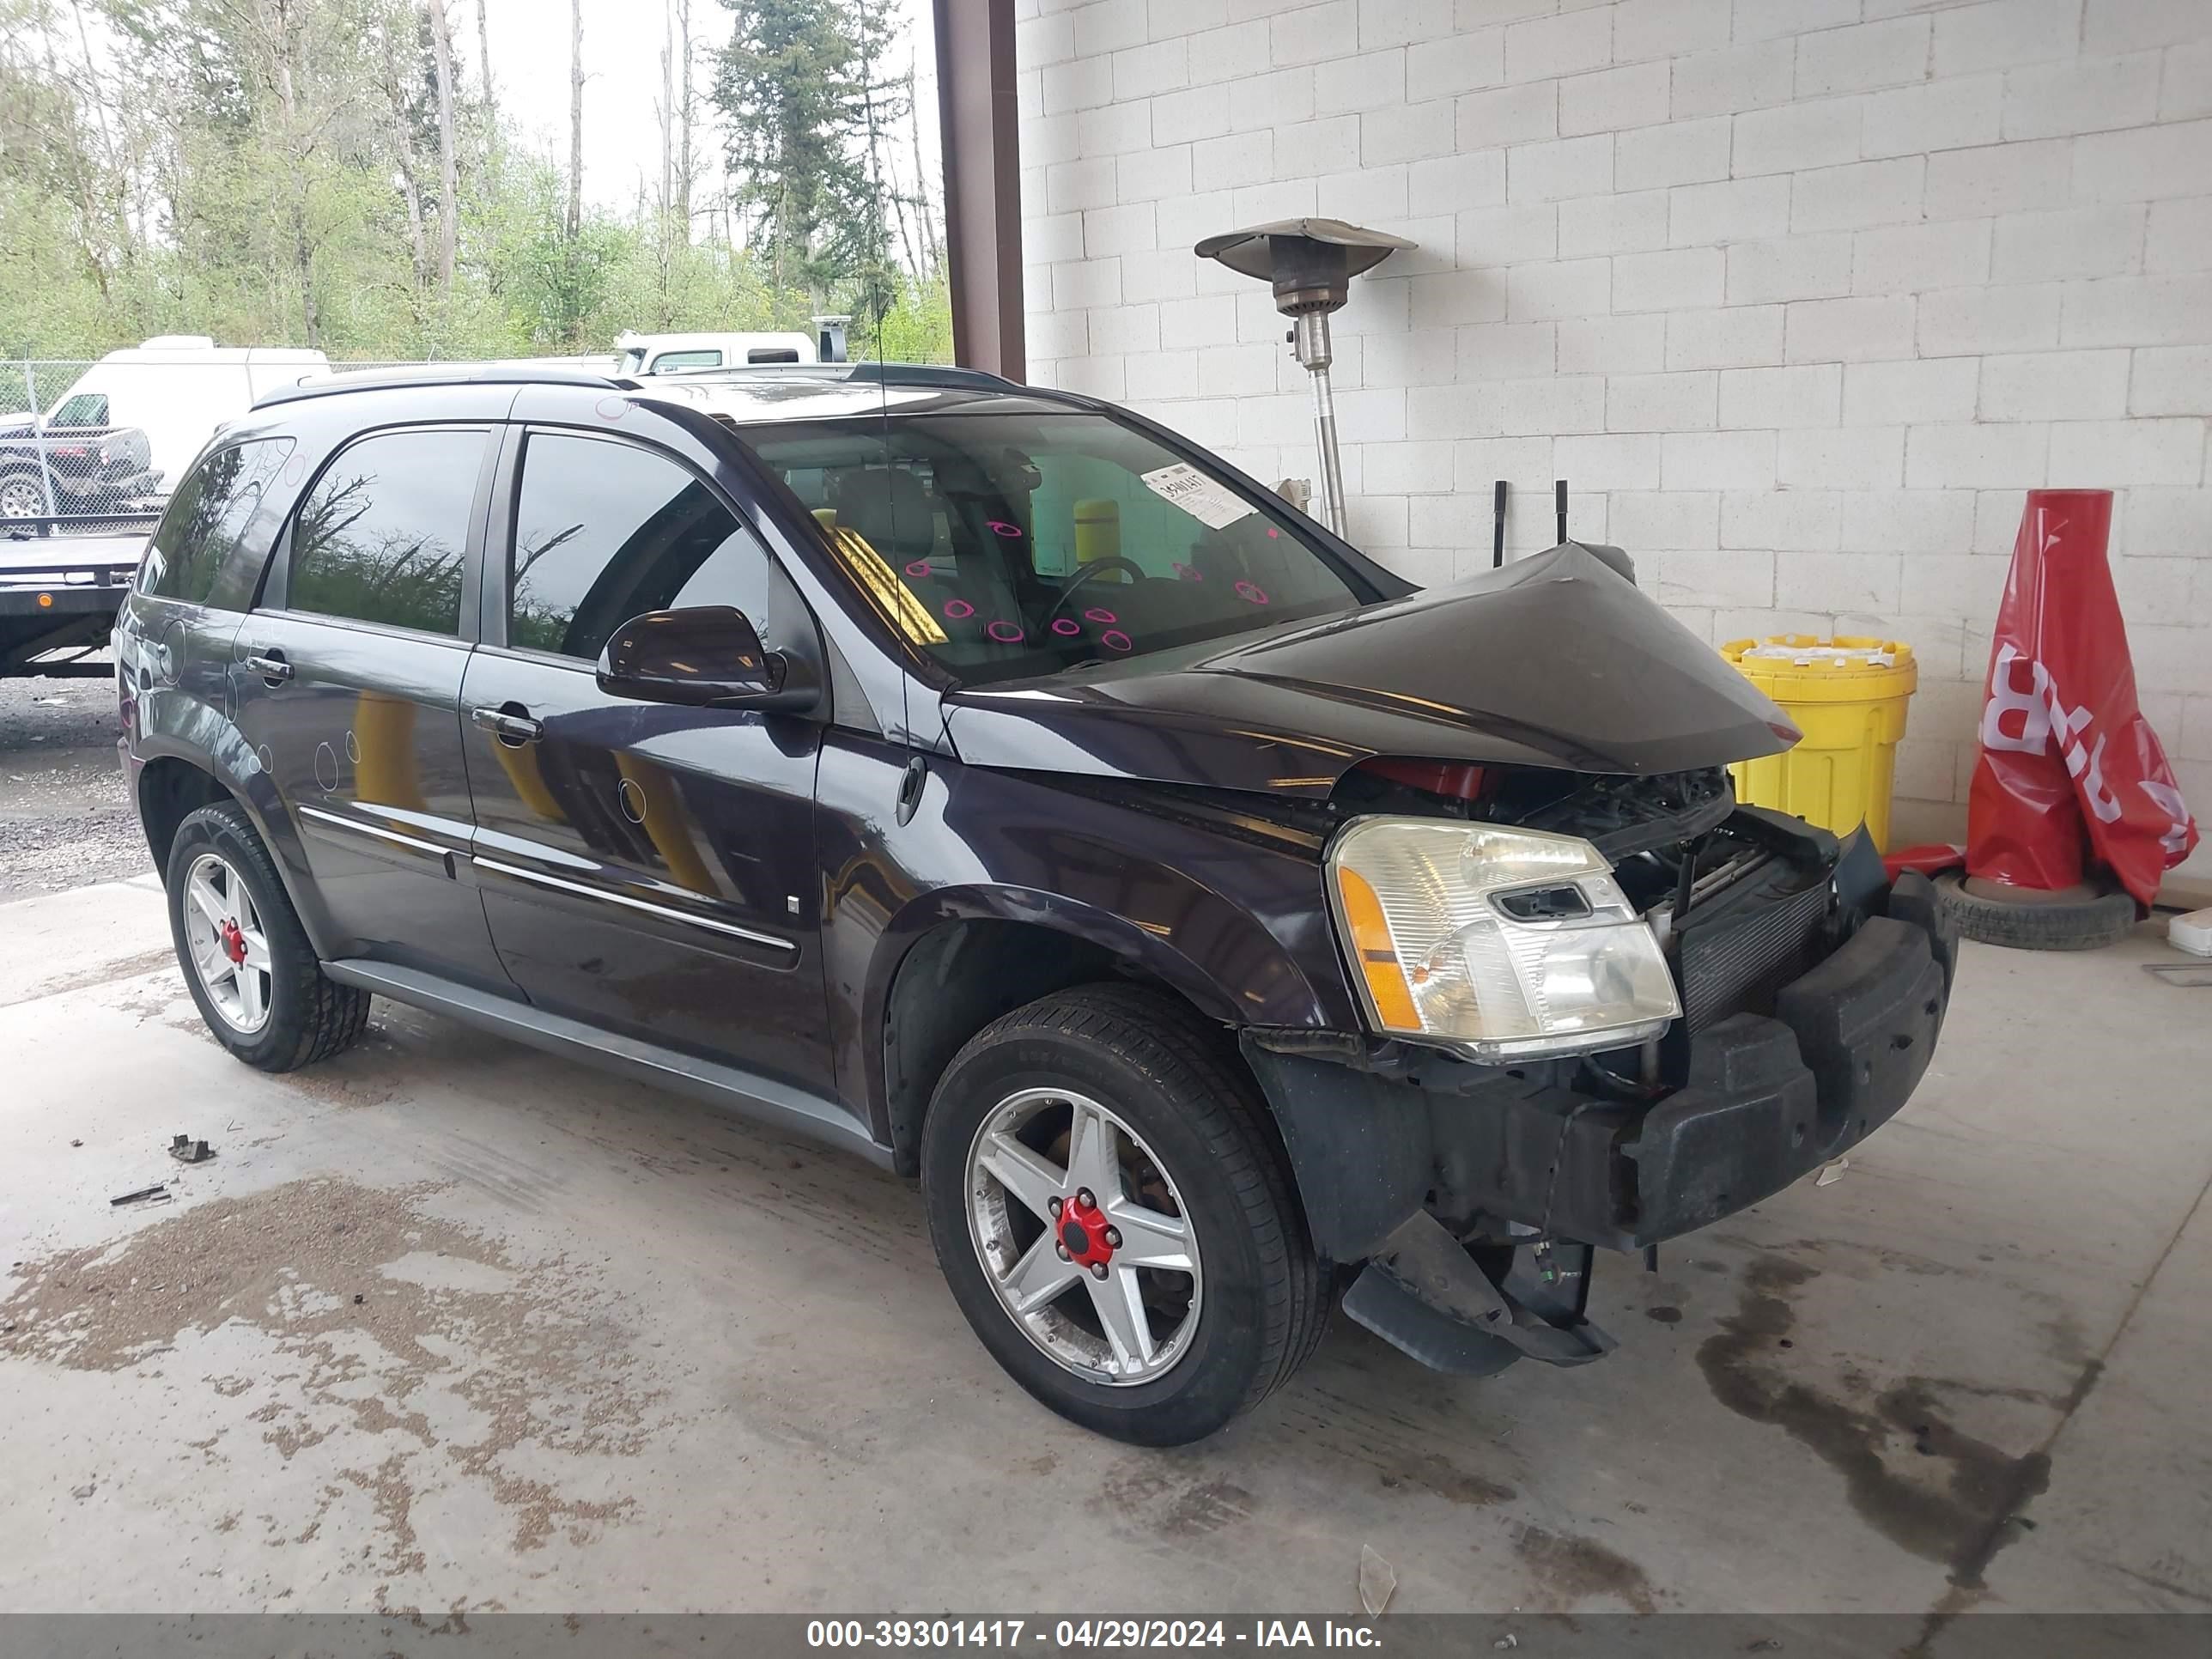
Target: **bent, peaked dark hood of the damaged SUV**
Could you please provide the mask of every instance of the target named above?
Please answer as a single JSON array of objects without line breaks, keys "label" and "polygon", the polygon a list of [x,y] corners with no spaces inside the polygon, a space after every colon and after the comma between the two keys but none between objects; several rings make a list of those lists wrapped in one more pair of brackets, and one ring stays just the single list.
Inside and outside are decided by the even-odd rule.
[{"label": "bent, peaked dark hood of the damaged SUV", "polygon": [[1641,774],[1796,741],[1579,542],[1177,668],[953,690],[945,723],[971,765],[1316,799],[1376,754]]}]

